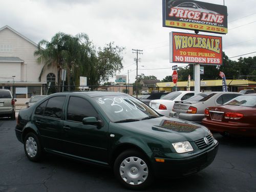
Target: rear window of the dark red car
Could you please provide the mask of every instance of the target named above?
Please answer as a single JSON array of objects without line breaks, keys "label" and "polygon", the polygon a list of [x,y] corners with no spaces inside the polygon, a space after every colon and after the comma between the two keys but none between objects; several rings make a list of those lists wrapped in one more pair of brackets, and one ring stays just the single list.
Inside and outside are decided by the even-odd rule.
[{"label": "rear window of the dark red car", "polygon": [[224,103],[225,105],[240,105],[256,107],[256,95],[241,95],[231,101]]}]

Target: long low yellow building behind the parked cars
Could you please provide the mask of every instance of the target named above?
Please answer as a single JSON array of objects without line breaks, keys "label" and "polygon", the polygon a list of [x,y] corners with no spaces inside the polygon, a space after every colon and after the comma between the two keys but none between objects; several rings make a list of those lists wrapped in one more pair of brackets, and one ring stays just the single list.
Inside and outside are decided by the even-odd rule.
[{"label": "long low yellow building behind the parked cars", "polygon": [[[256,81],[250,81],[245,79],[226,79],[228,91],[239,92],[243,89],[256,89]],[[186,91],[190,88],[190,91],[194,90],[194,81],[178,81],[177,87],[173,82],[159,82],[157,83],[159,91]],[[222,91],[222,80],[201,80],[200,91]]]}]

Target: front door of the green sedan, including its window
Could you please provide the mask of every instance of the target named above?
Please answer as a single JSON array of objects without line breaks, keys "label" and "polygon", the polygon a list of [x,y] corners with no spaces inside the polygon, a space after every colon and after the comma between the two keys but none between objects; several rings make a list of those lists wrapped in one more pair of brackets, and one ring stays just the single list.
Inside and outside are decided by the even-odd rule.
[{"label": "front door of the green sedan, including its window", "polygon": [[100,119],[93,105],[87,99],[70,96],[66,111],[63,129],[67,153],[92,161],[107,162],[108,124],[97,126],[82,123],[84,117]]}]

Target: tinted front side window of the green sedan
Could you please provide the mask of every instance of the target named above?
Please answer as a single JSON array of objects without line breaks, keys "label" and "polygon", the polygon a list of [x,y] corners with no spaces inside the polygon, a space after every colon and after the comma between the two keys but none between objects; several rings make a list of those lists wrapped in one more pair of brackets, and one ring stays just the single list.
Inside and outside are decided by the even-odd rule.
[{"label": "tinted front side window of the green sedan", "polygon": [[82,122],[84,117],[98,117],[90,102],[80,97],[70,97],[67,120]]}]

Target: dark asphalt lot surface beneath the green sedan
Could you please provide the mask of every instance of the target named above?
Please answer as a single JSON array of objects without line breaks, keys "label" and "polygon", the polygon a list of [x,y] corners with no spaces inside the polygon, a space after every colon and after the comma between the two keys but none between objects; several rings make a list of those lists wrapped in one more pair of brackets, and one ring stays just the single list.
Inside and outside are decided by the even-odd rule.
[{"label": "dark asphalt lot surface beneath the green sedan", "polygon": [[[29,161],[15,124],[0,119],[0,191],[126,191],[108,168],[52,155]],[[256,140],[214,136],[220,146],[210,166],[182,179],[158,178],[146,191],[256,191]]]}]

